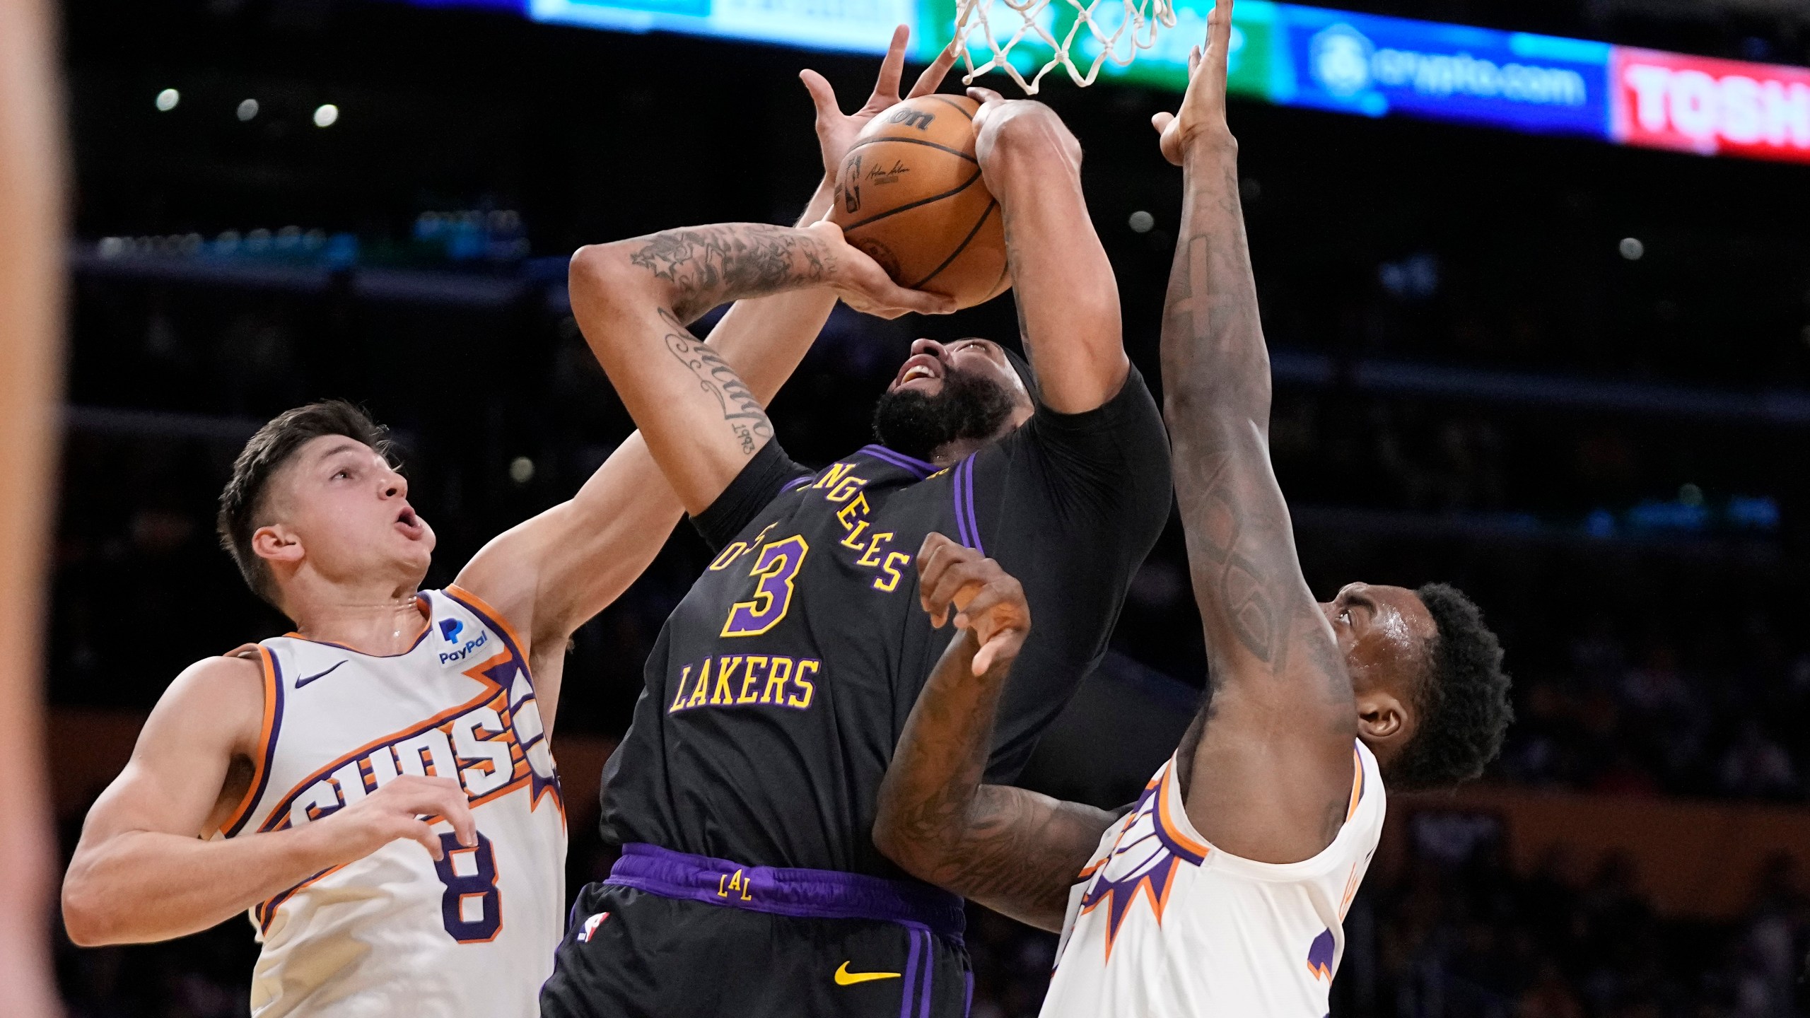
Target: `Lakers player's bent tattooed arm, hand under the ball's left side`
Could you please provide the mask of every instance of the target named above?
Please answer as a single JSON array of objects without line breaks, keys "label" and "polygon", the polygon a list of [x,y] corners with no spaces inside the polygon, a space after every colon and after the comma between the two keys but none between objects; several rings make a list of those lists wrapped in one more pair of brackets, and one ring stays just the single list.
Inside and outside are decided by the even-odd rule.
[{"label": "Lakers player's bent tattooed arm, hand under the ball's left side", "polygon": [[686,330],[704,312],[827,286],[858,310],[947,312],[901,290],[833,223],[726,223],[579,248],[572,313],[688,513],[702,513],[773,437],[755,393]]}]

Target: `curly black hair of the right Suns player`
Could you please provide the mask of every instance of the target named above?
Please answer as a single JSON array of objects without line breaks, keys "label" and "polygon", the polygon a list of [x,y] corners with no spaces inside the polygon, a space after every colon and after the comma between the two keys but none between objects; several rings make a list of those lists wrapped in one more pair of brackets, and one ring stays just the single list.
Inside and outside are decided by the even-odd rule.
[{"label": "curly black hair of the right Suns player", "polygon": [[1446,583],[1415,591],[1434,616],[1437,636],[1426,648],[1426,672],[1415,690],[1419,732],[1390,763],[1396,788],[1450,788],[1482,773],[1502,752],[1515,719],[1508,703],[1502,645],[1477,605]]}]

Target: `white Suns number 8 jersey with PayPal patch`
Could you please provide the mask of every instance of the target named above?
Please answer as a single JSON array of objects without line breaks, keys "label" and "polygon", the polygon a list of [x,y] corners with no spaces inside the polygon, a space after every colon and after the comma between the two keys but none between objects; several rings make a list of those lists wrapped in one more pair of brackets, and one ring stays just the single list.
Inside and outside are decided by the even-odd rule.
[{"label": "white Suns number 8 jersey with PayPal patch", "polygon": [[532,1018],[565,931],[565,804],[521,643],[476,596],[418,594],[427,629],[378,658],[257,645],[262,752],[223,837],[319,821],[398,773],[458,777],[478,846],[393,840],[252,909],[252,1014]]}]

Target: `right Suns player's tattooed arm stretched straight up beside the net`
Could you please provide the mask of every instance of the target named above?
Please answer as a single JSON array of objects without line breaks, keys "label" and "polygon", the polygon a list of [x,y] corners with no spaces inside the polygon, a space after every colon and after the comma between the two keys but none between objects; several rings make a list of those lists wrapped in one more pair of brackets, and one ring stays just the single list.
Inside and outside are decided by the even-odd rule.
[{"label": "right Suns player's tattooed arm stretched straight up beside the net", "polygon": [[1345,819],[1358,719],[1332,629],[1294,551],[1269,462],[1269,353],[1225,125],[1231,0],[1209,18],[1162,152],[1184,168],[1182,230],[1162,324],[1164,417],[1213,699],[1196,726],[1187,815],[1262,862],[1319,853]]}]

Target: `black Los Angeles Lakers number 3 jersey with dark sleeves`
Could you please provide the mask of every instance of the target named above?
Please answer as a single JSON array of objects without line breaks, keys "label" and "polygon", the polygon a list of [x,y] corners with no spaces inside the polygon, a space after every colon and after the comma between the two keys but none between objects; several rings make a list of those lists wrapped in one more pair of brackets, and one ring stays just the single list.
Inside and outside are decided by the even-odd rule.
[{"label": "black Los Angeles Lakers number 3 jersey with dark sleeves", "polygon": [[603,783],[605,837],[753,866],[894,877],[880,781],[954,629],[918,605],[943,533],[1024,585],[990,781],[1010,781],[1104,656],[1169,514],[1169,444],[1133,368],[1104,406],[1039,408],[938,469],[881,446],[811,471],[769,442],[693,522],[719,552],[666,619]]}]

